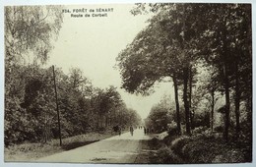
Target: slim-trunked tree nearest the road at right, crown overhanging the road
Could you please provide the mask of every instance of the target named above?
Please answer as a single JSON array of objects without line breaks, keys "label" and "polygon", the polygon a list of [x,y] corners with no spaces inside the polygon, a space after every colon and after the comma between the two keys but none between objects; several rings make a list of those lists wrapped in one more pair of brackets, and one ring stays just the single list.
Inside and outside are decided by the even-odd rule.
[{"label": "slim-trunked tree nearest the road at right, crown overhanging the road", "polygon": [[[163,15],[163,14],[161,14]],[[172,78],[175,92],[177,127],[180,131],[178,85],[180,84],[179,50],[166,36],[168,31],[160,23],[161,15],[154,17],[148,28],[142,30],[118,58],[123,85],[129,92],[149,95],[154,83]],[[173,44],[174,46],[171,46]]]}]

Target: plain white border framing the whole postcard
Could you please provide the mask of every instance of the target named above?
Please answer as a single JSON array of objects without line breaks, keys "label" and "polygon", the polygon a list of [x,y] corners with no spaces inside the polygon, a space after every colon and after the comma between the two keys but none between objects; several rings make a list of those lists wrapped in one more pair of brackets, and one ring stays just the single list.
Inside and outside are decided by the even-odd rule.
[{"label": "plain white border framing the whole postcard", "polygon": [[[5,163],[4,162],[4,6],[8,5],[75,5],[75,4],[125,4],[125,3],[139,3],[139,2],[192,2],[192,3],[251,3],[252,4],[252,35],[253,35],[253,48],[255,49],[255,2],[253,0],[1,0],[0,1],[0,166],[1,167],[26,167],[26,166],[37,166],[37,167],[49,167],[49,166],[93,166],[93,164],[76,164],[76,163]],[[255,72],[255,52],[253,49],[253,72]],[[255,74],[253,73],[253,85],[255,85]],[[253,101],[255,95],[255,89],[253,88]],[[193,164],[193,165],[178,165],[178,166],[238,166],[238,167],[253,167],[256,166],[256,155],[255,155],[255,148],[256,148],[256,139],[255,139],[255,129],[254,123],[256,122],[255,117],[255,106],[253,105],[253,163],[241,163],[241,164]],[[107,164],[107,165],[96,165],[96,166],[123,166],[120,164]],[[148,166],[148,165],[126,165],[126,166]],[[157,165],[151,165],[157,166]],[[163,166],[163,165],[158,165]],[[166,165],[164,165],[166,166]],[[177,166],[177,165],[168,165],[168,166]]]}]

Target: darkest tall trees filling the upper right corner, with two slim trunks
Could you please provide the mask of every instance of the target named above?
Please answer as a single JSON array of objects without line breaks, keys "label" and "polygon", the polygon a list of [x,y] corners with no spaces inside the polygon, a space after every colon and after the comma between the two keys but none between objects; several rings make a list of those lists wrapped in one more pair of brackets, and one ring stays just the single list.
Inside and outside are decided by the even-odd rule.
[{"label": "darkest tall trees filling the upper right corner, with two slim trunks", "polygon": [[[225,107],[224,107],[224,139],[228,140],[229,113],[230,113],[230,88],[235,79],[235,113],[236,124],[239,131],[239,73],[251,66],[251,6],[245,4],[209,4],[207,15],[204,15],[207,29],[201,36],[203,43],[202,50],[207,50],[205,55],[209,63],[216,66],[222,86],[224,86]],[[244,44],[242,44],[245,42]],[[240,46],[238,46],[239,44]],[[238,45],[237,45],[238,44]],[[238,46],[238,47],[237,47]],[[241,60],[248,60],[245,62]],[[250,72],[245,76],[250,76]],[[234,77],[233,77],[234,76]],[[248,79],[248,78],[247,78]]]}]

